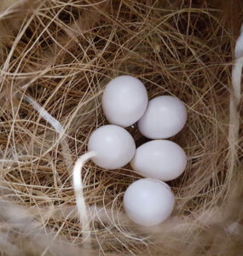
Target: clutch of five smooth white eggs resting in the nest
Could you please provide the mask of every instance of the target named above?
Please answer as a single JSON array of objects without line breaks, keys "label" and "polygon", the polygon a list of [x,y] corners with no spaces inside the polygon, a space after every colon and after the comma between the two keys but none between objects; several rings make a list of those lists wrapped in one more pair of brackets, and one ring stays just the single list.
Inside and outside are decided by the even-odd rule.
[{"label": "clutch of five smooth white eggs resting in the nest", "polygon": [[[187,165],[184,150],[161,139],[182,130],[186,108],[174,96],[158,96],[148,102],[145,86],[131,76],[119,76],[107,84],[102,107],[112,125],[101,126],[91,134],[88,149],[96,153],[92,160],[105,169],[117,169],[130,162],[136,172],[149,177],[126,189],[124,210],[136,224],[160,224],[171,215],[175,204],[170,187],[161,180],[180,176]],[[134,139],[123,127],[137,121],[142,135],[155,140],[136,149]]]}]

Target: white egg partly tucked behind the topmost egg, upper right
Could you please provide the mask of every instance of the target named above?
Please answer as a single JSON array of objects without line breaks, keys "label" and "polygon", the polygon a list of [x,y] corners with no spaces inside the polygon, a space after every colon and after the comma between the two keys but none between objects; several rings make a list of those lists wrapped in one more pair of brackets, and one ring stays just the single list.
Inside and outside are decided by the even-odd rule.
[{"label": "white egg partly tucked behind the topmost egg, upper right", "polygon": [[138,129],[148,138],[167,138],[181,131],[186,120],[187,110],[182,101],[174,96],[158,96],[148,102]]}]

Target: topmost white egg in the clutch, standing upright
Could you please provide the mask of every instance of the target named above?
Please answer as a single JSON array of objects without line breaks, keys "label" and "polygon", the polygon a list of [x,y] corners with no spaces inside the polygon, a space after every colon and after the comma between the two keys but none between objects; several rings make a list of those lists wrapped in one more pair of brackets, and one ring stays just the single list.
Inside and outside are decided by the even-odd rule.
[{"label": "topmost white egg in the clutch, standing upright", "polygon": [[102,97],[107,120],[113,125],[128,127],[142,117],[148,105],[148,93],[139,79],[119,76],[111,80]]}]

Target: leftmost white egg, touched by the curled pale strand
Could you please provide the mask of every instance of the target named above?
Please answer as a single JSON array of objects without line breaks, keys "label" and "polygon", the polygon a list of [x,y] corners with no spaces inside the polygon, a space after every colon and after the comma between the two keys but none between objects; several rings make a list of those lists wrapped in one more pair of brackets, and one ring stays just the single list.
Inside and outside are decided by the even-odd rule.
[{"label": "leftmost white egg, touched by the curled pale strand", "polygon": [[97,166],[113,170],[130,162],[136,145],[133,137],[124,128],[104,125],[91,134],[88,150],[96,153],[92,160]]}]

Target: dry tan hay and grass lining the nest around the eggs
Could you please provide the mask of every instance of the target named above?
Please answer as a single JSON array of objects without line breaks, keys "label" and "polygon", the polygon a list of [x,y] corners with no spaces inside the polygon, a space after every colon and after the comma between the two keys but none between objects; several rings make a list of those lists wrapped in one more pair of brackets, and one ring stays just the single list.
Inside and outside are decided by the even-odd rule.
[{"label": "dry tan hay and grass lining the nest around the eggs", "polygon": [[[241,104],[232,105],[240,120],[239,114],[229,114],[234,45],[243,20],[240,4],[0,3],[2,253],[243,252]],[[90,219],[86,247],[72,166],[86,152],[90,133],[107,124],[101,94],[120,74],[141,79],[149,98],[167,94],[185,102],[187,125],[171,140],[185,149],[188,166],[170,182],[176,194],[171,218],[145,229],[132,224],[122,207],[124,190],[139,175],[129,165],[105,171],[87,162],[82,172]],[[229,137],[229,121],[231,127],[239,122],[239,138]],[[136,127],[129,131],[137,144],[144,141]]]}]

